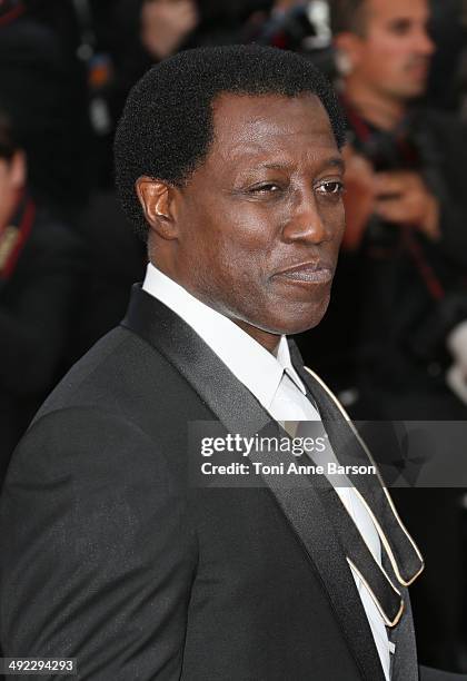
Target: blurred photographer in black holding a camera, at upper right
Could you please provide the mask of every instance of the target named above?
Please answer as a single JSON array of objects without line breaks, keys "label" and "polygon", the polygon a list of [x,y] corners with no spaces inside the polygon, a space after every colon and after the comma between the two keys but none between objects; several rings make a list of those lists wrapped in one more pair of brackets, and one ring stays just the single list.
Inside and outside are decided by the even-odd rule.
[{"label": "blurred photographer in black holding a camera, at upper right", "polygon": [[[467,415],[446,383],[448,336],[467,319],[467,140],[458,121],[416,103],[435,52],[428,21],[426,0],[331,3],[347,229],[320,368],[355,417]],[[316,354],[322,335],[311,336]]]}]

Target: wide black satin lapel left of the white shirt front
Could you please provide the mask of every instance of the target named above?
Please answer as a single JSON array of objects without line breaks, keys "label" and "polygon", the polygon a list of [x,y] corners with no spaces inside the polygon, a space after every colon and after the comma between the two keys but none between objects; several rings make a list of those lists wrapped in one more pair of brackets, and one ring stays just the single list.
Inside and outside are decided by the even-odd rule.
[{"label": "wide black satin lapel left of the white shirt front", "polygon": [[[133,287],[122,326],[157,348],[230,433],[261,433],[287,437],[255,396],[231,374],[206,343],[172,310]],[[268,463],[296,461],[286,452],[268,452]],[[251,453],[251,461],[265,455]],[[316,476],[319,478],[319,476]],[[294,475],[294,487],[284,476],[265,476],[265,482],[288,519],[310,565],[328,595],[350,653],[365,681],[385,681],[382,668],[361,600],[342,547],[324,511],[312,476]],[[310,632],[310,635],[312,632]]]}]

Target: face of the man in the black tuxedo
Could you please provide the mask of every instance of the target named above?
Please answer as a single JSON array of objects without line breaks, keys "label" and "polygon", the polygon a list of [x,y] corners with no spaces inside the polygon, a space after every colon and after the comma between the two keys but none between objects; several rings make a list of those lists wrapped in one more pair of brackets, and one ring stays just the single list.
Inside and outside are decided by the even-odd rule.
[{"label": "face of the man in the black tuxedo", "polygon": [[344,231],[328,115],[311,95],[222,95],[213,122],[177,203],[175,278],[257,339],[310,328],[328,306]]}]

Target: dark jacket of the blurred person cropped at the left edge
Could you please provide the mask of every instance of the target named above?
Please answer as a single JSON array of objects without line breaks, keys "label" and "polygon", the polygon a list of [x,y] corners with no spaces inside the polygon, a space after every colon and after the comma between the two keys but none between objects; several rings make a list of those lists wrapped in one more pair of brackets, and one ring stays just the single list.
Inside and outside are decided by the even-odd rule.
[{"label": "dark jacket of the blurred person cropped at the left edge", "polygon": [[74,233],[31,199],[12,225],[24,226],[28,211],[26,240],[0,268],[0,484],[14,445],[69,366],[70,324],[86,279]]}]

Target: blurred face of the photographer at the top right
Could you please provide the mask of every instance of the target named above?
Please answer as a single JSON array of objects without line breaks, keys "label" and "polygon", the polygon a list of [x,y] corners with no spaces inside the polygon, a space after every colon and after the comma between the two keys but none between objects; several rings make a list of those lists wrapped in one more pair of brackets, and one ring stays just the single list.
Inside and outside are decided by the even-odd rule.
[{"label": "blurred face of the photographer at the top right", "polygon": [[352,77],[395,99],[425,91],[435,50],[426,0],[367,0],[364,37],[355,37]]}]

